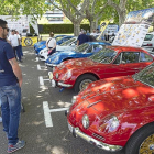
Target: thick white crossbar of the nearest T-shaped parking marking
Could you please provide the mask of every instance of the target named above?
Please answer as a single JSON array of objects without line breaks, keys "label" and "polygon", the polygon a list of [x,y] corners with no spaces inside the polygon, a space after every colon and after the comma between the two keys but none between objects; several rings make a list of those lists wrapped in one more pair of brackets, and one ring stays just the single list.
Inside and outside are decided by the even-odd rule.
[{"label": "thick white crossbar of the nearest T-shaped parking marking", "polygon": [[43,101],[43,110],[44,110],[44,118],[46,128],[53,127],[52,116],[50,112],[50,107],[47,101]]}]

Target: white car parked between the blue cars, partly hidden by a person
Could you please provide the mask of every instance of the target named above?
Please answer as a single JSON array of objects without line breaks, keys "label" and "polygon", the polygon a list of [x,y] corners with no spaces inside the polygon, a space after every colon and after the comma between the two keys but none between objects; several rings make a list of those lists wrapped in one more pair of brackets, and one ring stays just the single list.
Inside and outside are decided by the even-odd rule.
[{"label": "white car parked between the blue cars, partly hidden by a person", "polygon": [[[70,50],[74,50],[76,45],[77,45],[77,37],[72,37],[68,41],[62,43],[61,45],[57,45],[56,52],[70,51]],[[45,47],[38,53],[40,59],[46,61],[48,58],[47,54],[48,54],[48,51]]]}]

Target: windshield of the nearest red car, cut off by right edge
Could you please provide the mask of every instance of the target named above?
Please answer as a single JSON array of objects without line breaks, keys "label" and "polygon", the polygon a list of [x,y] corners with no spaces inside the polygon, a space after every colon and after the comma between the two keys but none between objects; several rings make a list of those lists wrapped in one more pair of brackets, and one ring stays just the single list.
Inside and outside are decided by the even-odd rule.
[{"label": "windshield of the nearest red car, cut off by right edge", "polygon": [[139,80],[154,88],[154,63],[132,77],[134,80]]}]

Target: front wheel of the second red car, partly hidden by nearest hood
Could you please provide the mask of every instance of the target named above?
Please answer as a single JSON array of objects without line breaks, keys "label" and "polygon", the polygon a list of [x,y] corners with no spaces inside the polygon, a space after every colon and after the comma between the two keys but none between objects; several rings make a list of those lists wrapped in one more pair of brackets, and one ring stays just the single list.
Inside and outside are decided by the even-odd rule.
[{"label": "front wheel of the second red car, partly hidden by nearest hood", "polygon": [[95,80],[97,80],[97,78],[92,75],[89,75],[89,74],[81,75],[75,84],[75,87],[74,87],[75,92],[79,92],[86,89],[86,87]]}]

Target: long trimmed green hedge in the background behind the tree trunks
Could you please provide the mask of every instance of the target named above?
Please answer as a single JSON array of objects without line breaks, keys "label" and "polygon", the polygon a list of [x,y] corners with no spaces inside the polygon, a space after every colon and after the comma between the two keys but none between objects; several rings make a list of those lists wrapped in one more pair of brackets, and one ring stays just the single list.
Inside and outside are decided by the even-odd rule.
[{"label": "long trimmed green hedge in the background behind the tree trunks", "polygon": [[[43,28],[43,31],[41,29]],[[54,32],[55,34],[63,34],[63,33],[74,33],[74,25],[73,24],[38,24],[40,34],[48,34],[50,32]],[[89,24],[80,24],[80,29],[90,30]],[[34,33],[32,26],[30,26],[30,32]]]}]

